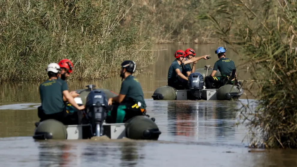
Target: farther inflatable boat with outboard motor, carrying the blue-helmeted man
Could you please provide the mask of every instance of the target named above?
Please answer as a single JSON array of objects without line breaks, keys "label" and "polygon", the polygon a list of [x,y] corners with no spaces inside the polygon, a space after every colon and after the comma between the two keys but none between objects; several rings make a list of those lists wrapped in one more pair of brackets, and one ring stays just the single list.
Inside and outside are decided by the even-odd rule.
[{"label": "farther inflatable boat with outboard motor, carrying the blue-helmeted man", "polygon": [[[154,100],[238,100],[243,94],[240,83],[226,84],[218,89],[205,89],[204,80],[211,71],[210,65],[196,69],[188,76],[188,90],[176,90],[170,86],[163,86],[155,90],[152,98]],[[217,71],[214,76],[220,76],[220,71]]]}]

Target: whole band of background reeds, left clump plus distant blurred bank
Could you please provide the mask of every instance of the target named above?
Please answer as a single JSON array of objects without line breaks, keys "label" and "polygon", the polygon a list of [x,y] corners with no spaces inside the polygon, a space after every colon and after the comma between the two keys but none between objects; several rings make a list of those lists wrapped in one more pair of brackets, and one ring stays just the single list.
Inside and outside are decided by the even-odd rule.
[{"label": "whole band of background reeds, left clump plus distant blurred bank", "polygon": [[[152,44],[217,43],[222,40],[216,23],[201,19],[201,14],[231,8],[217,7],[224,2],[2,1],[0,82],[44,80],[46,65],[64,58],[74,63],[70,79],[102,79],[117,75],[124,59],[135,60],[138,67],[152,62]],[[224,15],[215,16],[224,19]],[[233,29],[229,32],[234,35]]]}]

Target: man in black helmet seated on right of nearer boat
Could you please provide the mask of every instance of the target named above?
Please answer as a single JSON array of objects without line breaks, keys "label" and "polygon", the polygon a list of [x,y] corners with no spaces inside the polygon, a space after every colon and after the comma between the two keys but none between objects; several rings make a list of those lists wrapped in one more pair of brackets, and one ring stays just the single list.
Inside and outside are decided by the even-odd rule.
[{"label": "man in black helmet seated on right of nearer boat", "polygon": [[119,96],[108,99],[108,105],[113,104],[111,111],[107,113],[107,122],[124,123],[130,118],[137,115],[145,115],[146,103],[142,87],[138,80],[132,76],[135,72],[136,64],[131,60],[125,60],[121,64],[120,77],[122,77],[122,85]]}]

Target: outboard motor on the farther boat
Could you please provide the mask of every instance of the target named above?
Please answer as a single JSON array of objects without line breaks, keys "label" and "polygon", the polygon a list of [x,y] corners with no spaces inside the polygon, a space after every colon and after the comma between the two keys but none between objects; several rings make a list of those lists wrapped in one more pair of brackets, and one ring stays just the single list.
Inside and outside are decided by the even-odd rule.
[{"label": "outboard motor on the farther boat", "polygon": [[188,87],[191,99],[197,100],[201,98],[204,79],[199,72],[191,73],[188,77]]}]

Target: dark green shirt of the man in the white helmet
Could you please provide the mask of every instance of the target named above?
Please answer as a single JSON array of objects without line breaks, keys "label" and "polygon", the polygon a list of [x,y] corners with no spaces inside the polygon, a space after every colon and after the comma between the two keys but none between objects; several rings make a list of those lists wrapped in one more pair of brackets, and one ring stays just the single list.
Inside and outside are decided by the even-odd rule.
[{"label": "dark green shirt of the man in the white helmet", "polygon": [[41,105],[45,114],[55,114],[64,110],[64,90],[67,90],[67,83],[61,79],[46,80],[39,85]]}]

